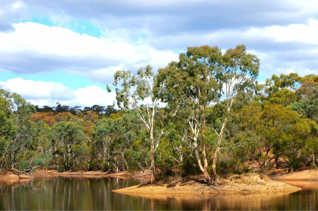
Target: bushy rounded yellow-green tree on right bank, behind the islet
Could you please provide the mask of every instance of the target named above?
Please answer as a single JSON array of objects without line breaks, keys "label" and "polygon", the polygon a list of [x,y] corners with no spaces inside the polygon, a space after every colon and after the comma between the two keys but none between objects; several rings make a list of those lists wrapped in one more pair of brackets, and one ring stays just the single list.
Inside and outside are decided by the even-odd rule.
[{"label": "bushy rounded yellow-green tree on right bank, behind the islet", "polygon": [[280,157],[286,158],[293,169],[292,161],[317,135],[317,124],[301,118],[291,107],[270,104],[262,108],[255,103],[245,106],[239,116],[243,122],[236,143],[246,143],[242,149],[259,164],[262,173],[269,162]]}]

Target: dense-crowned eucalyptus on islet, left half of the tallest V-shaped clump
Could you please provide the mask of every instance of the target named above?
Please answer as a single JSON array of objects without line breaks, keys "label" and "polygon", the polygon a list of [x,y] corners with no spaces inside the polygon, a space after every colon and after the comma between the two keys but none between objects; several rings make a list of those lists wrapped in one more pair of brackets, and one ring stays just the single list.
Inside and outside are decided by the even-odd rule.
[{"label": "dense-crowned eucalyptus on islet, left half of the tallest V-shaped clump", "polygon": [[179,55],[179,62],[171,62],[167,67],[159,69],[156,84],[161,87],[159,95],[164,102],[168,105],[179,104],[182,108],[180,114],[190,128],[187,135],[192,139],[198,167],[206,181],[210,180],[210,176],[204,128],[210,116],[208,107],[217,103],[221,96],[222,84],[217,78],[221,62],[222,53],[218,47],[188,47],[186,54]]}]

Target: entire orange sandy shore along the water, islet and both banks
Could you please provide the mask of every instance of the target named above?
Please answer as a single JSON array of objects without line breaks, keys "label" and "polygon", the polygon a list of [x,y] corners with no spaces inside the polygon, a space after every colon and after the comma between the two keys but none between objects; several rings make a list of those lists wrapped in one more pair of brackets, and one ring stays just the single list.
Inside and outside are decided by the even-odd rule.
[{"label": "entire orange sandy shore along the water, islet and both banks", "polygon": [[[76,177],[117,177],[117,178],[143,178],[150,179],[150,172],[102,172],[102,171],[66,171],[36,170],[31,175],[7,172],[0,175],[0,180],[24,182],[36,178],[54,176],[76,176]],[[257,174],[233,175],[220,178],[216,186],[210,188],[200,176],[189,177],[183,180],[180,177],[170,177],[154,184],[145,183],[123,189],[112,190],[124,194],[210,194],[210,195],[239,195],[257,193],[292,193],[301,190],[301,186],[295,185],[297,181],[318,180],[318,170],[301,170],[287,174],[259,176]],[[284,182],[285,181],[285,182]],[[288,182],[291,181],[291,182]],[[292,182],[294,181],[294,183]],[[318,184],[317,184],[318,185]]]}]

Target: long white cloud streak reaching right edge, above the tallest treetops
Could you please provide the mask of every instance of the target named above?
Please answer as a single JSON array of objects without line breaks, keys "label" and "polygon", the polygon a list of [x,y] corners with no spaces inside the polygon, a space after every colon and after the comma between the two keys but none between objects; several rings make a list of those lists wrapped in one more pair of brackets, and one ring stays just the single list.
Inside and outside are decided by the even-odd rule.
[{"label": "long white cloud streak reaching right edge, above the tallest treetops", "polygon": [[[275,44],[280,47],[280,43],[303,43],[303,44],[318,44],[318,20],[314,18],[308,19],[306,23],[289,24],[286,26],[266,26],[266,27],[245,27],[220,29],[210,32],[188,32],[179,35],[167,35],[156,40],[152,40],[153,45],[165,43],[172,48],[180,48],[186,43],[192,45],[217,45],[230,46],[244,43],[258,47],[258,50],[268,49],[266,44]],[[274,48],[274,46],[270,46]]]}]

